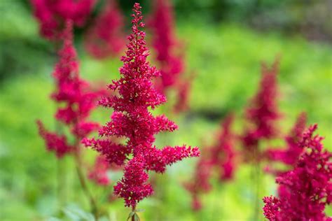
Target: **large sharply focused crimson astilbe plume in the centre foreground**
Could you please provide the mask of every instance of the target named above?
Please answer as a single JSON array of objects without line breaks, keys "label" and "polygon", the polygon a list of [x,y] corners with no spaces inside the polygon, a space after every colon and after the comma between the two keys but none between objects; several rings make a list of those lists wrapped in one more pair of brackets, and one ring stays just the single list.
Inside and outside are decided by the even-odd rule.
[{"label": "large sharply focused crimson astilbe plume in the centre foreground", "polygon": [[[146,61],[148,48],[145,33],[140,30],[144,23],[139,3],[134,4],[133,11],[132,34],[128,36],[125,56],[121,57],[121,78],[109,85],[118,95],[100,101],[102,106],[113,108],[111,121],[99,130],[101,138],[85,139],[83,143],[104,155],[110,164],[125,165],[124,176],[114,187],[114,193],[134,210],[139,201],[153,193],[148,171],[163,173],[167,165],[185,157],[197,157],[199,150],[186,145],[162,149],[153,145],[154,134],[174,131],[177,125],[164,115],[153,116],[149,111],[166,99],[153,88],[152,78],[160,73]],[[110,141],[110,136],[125,137],[127,141],[116,144]]]}]

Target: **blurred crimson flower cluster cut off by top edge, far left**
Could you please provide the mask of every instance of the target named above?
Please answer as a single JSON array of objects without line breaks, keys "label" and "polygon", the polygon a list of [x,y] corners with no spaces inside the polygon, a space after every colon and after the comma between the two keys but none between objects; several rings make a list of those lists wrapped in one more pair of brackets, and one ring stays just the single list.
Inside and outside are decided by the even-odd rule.
[{"label": "blurred crimson flower cluster cut off by top edge, far left", "polygon": [[67,20],[79,27],[83,26],[95,0],[31,0],[31,3],[41,25],[41,35],[58,40]]}]

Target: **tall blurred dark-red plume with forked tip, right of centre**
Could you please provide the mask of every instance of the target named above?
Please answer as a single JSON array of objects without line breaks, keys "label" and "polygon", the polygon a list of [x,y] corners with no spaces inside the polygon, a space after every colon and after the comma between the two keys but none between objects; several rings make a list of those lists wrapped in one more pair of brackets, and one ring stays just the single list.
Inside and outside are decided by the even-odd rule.
[{"label": "tall blurred dark-red plume with forked tip, right of centre", "polygon": [[[277,73],[279,60],[276,59],[271,69],[262,64],[261,87],[254,99],[251,100],[246,110],[249,128],[242,137],[244,150],[251,156],[256,152],[258,155],[258,142],[261,138],[273,138],[277,136],[275,121],[280,114],[277,106]],[[256,159],[261,157],[256,156]]]}]

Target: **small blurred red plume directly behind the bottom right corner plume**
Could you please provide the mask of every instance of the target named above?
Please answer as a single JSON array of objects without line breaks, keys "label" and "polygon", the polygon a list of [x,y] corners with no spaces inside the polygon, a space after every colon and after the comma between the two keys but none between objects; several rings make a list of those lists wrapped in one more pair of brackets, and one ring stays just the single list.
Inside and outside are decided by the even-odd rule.
[{"label": "small blurred red plume directly behind the bottom right corner plume", "polygon": [[299,141],[305,130],[305,123],[307,122],[307,115],[300,113],[296,120],[293,129],[289,132],[289,135],[284,138],[286,141],[286,148],[281,150],[268,150],[267,157],[272,161],[283,162],[289,166],[296,166],[298,157],[300,156],[303,148],[300,148]]}]

